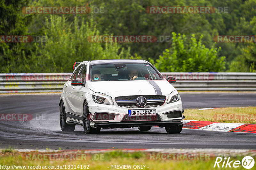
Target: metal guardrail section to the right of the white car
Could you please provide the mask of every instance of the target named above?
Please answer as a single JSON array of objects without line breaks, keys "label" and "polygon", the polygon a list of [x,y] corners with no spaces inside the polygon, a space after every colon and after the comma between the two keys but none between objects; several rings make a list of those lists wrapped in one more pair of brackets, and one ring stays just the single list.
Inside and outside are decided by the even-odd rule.
[{"label": "metal guardrail section to the right of the white car", "polygon": [[177,90],[256,91],[256,73],[162,73]]}]

